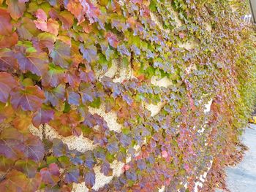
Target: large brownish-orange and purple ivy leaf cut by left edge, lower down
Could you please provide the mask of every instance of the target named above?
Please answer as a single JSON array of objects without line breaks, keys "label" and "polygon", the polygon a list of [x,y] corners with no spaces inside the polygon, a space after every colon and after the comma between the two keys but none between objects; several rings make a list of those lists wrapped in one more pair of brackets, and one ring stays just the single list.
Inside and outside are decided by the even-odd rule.
[{"label": "large brownish-orange and purple ivy leaf cut by left edge, lower down", "polygon": [[16,159],[24,152],[23,135],[15,128],[4,128],[0,134],[0,154]]}]

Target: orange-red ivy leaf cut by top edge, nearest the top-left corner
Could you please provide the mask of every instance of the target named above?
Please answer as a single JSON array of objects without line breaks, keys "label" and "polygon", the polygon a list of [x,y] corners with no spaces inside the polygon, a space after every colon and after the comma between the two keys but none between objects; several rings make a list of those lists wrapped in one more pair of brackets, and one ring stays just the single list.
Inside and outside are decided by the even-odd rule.
[{"label": "orange-red ivy leaf cut by top edge, nearest the top-left corner", "polygon": [[11,17],[14,20],[18,20],[23,15],[23,12],[26,9],[24,1],[18,0],[7,0],[6,4],[8,5],[7,11],[10,12]]}]

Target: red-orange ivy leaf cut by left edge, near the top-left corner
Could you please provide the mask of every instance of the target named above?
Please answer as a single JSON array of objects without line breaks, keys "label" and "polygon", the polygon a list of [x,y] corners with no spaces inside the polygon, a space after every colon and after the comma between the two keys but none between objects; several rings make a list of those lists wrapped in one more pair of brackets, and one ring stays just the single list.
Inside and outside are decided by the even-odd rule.
[{"label": "red-orange ivy leaf cut by left edge, near the top-left corner", "polygon": [[11,17],[6,9],[0,9],[0,35],[12,34]]}]

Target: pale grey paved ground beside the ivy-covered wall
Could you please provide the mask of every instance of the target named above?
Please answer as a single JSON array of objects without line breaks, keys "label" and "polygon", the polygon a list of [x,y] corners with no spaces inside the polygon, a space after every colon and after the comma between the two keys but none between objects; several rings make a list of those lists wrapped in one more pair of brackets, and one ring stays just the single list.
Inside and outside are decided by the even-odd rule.
[{"label": "pale grey paved ground beside the ivy-covered wall", "polygon": [[[237,166],[227,167],[227,188],[231,192],[256,191],[256,126],[250,124],[242,137],[244,145],[249,147],[243,161]],[[218,192],[217,190],[216,192]]]}]

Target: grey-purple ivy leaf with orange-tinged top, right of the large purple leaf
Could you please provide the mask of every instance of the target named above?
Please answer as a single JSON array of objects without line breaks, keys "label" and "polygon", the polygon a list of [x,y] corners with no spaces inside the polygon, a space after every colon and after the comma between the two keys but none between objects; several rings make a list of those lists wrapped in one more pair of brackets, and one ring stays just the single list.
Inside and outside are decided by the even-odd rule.
[{"label": "grey-purple ivy leaf with orange-tinged top, right of the large purple leaf", "polygon": [[60,105],[65,100],[65,86],[60,84],[56,88],[45,91],[45,102],[50,102],[53,107]]}]

